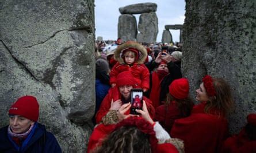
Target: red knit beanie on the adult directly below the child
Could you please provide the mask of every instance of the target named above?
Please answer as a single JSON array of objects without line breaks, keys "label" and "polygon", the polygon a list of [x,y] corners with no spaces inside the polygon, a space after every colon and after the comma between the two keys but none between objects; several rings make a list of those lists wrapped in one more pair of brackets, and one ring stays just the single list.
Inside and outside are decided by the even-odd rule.
[{"label": "red knit beanie on the adult directly below the child", "polygon": [[116,84],[117,84],[117,86],[132,85],[134,87],[136,82],[135,82],[135,79],[132,76],[131,72],[124,71],[117,75]]}]

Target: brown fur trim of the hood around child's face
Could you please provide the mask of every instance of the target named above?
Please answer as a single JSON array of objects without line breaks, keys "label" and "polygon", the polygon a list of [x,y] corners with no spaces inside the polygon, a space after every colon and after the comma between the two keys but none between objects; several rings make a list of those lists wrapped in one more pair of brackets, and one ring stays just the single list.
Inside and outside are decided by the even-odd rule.
[{"label": "brown fur trim of the hood around child's face", "polygon": [[124,60],[120,56],[120,54],[121,54],[121,52],[123,52],[123,50],[125,50],[127,48],[135,48],[135,49],[139,50],[140,56],[136,62],[137,62],[137,64],[144,63],[144,61],[147,58],[147,49],[143,45],[140,45],[139,43],[134,42],[134,41],[127,41],[124,44],[118,46],[116,49],[116,52],[114,52],[114,59],[119,61],[120,64],[124,64]]}]

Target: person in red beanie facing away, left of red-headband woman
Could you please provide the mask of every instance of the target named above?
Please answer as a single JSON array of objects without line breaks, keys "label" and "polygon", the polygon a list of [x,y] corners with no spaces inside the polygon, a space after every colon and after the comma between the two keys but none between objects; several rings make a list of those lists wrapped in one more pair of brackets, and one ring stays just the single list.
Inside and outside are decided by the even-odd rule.
[{"label": "person in red beanie facing away, left of red-headband woman", "polygon": [[189,116],[193,105],[193,101],[189,98],[188,79],[176,79],[169,85],[165,104],[156,108],[155,120],[170,132],[174,120]]}]

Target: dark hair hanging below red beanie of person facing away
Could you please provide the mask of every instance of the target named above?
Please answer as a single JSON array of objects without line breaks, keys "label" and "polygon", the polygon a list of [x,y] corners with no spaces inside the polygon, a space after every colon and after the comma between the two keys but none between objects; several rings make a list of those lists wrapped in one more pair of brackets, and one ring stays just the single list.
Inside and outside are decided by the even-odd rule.
[{"label": "dark hair hanging below red beanie of person facing away", "polygon": [[170,105],[171,101],[175,101],[175,104],[177,105],[179,112],[181,112],[182,117],[186,117],[191,114],[194,103],[190,97],[186,99],[176,99],[175,97],[171,96],[170,93],[167,93],[165,105]]}]

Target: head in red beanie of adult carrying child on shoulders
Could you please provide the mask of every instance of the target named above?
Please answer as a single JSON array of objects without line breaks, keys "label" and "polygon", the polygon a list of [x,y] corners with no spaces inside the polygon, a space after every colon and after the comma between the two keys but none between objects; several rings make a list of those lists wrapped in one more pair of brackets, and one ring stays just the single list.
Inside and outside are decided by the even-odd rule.
[{"label": "head in red beanie of adult carrying child on shoulders", "polygon": [[129,71],[119,73],[116,84],[119,88],[119,92],[125,99],[131,96],[131,89],[136,86],[135,79]]}]

